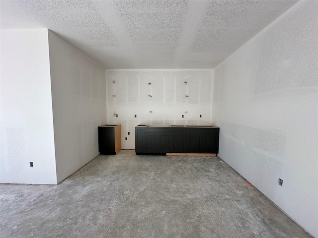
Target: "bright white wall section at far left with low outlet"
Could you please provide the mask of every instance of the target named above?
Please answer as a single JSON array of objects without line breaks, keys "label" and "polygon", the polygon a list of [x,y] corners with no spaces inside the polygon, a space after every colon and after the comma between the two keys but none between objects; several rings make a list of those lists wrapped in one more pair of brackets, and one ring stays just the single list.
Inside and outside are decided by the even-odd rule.
[{"label": "bright white wall section at far left with low outlet", "polygon": [[47,29],[1,30],[0,76],[0,182],[56,184]]}]

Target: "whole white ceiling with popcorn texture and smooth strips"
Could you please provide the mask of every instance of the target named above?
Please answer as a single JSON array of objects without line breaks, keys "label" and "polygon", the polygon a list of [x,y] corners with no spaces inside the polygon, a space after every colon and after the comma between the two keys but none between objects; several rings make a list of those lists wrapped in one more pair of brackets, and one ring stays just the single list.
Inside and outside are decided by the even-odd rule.
[{"label": "whole white ceiling with popcorn texture and smooth strips", "polygon": [[49,28],[105,68],[214,68],[297,0],[1,0],[1,28]]}]

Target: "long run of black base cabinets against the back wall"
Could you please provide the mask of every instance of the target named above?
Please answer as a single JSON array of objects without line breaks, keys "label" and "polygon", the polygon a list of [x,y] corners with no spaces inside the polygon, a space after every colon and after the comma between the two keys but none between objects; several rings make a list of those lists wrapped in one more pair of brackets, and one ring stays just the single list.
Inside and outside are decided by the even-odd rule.
[{"label": "long run of black base cabinets against the back wall", "polygon": [[136,154],[219,153],[219,127],[136,126]]}]

